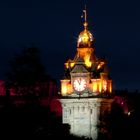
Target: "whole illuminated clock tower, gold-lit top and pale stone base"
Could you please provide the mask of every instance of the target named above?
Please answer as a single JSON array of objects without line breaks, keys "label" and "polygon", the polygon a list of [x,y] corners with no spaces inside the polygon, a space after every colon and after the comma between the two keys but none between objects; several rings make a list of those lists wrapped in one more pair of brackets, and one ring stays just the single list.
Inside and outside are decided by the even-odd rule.
[{"label": "whole illuminated clock tower, gold-lit top and pale stone base", "polygon": [[94,54],[94,36],[88,30],[86,9],[83,12],[84,29],[77,40],[75,58],[65,63],[60,101],[63,123],[70,125],[70,133],[96,140],[99,117],[110,110],[112,80],[106,60]]}]

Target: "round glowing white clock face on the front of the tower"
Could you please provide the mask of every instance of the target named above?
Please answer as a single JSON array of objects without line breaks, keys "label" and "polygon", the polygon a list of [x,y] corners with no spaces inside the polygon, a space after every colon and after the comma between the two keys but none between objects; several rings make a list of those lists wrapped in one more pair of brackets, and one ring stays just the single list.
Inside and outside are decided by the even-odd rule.
[{"label": "round glowing white clock face on the front of the tower", "polygon": [[83,78],[77,78],[74,80],[73,86],[76,91],[83,91],[86,88],[86,80]]}]

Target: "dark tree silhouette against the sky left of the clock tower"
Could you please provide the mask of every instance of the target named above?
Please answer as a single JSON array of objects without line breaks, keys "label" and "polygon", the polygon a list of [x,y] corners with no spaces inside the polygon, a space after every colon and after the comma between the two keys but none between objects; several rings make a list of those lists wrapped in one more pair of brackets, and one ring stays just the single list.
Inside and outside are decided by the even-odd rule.
[{"label": "dark tree silhouette against the sky left of the clock tower", "polygon": [[7,88],[16,95],[39,95],[47,93],[49,83],[54,80],[45,72],[40,51],[32,44],[10,60],[10,70],[6,74]]}]

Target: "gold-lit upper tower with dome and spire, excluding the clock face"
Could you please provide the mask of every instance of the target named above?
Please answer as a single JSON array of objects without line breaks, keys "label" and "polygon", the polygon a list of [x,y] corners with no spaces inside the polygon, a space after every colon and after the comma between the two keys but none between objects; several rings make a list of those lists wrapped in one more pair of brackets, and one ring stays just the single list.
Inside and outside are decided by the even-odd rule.
[{"label": "gold-lit upper tower with dome and spire, excluding the clock face", "polygon": [[[65,75],[61,80],[61,94],[67,96],[75,92],[73,87],[73,75],[83,77],[84,72],[81,68],[87,71],[87,90],[94,95],[100,93],[112,93],[112,80],[109,78],[107,62],[104,59],[99,59],[94,54],[94,36],[88,29],[87,11],[84,12],[84,29],[79,34],[77,39],[77,52],[73,60],[69,59],[65,63]],[[82,62],[79,62],[79,60]],[[77,67],[77,69],[75,68]],[[73,69],[76,72],[73,74]]]}]

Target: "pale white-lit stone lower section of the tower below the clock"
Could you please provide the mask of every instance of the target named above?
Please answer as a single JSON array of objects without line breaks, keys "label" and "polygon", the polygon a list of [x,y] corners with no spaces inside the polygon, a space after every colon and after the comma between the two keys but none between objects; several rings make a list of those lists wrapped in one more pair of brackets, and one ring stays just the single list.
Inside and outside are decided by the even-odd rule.
[{"label": "pale white-lit stone lower section of the tower below the clock", "polygon": [[[63,123],[70,125],[70,133],[96,140],[101,112],[109,111],[112,99],[61,99]],[[102,109],[102,110],[101,110]]]}]

